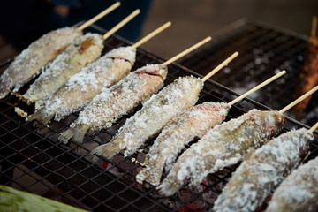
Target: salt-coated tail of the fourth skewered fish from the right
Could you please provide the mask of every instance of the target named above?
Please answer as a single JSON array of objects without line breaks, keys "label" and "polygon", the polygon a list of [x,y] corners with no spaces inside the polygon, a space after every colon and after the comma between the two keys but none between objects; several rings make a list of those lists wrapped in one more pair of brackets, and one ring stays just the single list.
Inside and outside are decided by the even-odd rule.
[{"label": "salt-coated tail of the fourth skewered fish from the right", "polygon": [[163,169],[161,168],[162,167],[147,166],[143,170],[140,170],[136,176],[137,182],[141,184],[143,181],[147,181],[153,186],[158,186],[163,173]]}]

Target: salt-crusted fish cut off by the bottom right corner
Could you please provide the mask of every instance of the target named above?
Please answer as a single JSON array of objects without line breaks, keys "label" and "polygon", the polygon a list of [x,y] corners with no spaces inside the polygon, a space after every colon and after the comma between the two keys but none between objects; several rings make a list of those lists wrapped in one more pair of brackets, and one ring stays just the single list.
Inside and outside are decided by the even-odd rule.
[{"label": "salt-crusted fish cut off by the bottom right corner", "polygon": [[284,179],[269,201],[267,212],[318,211],[318,157]]}]

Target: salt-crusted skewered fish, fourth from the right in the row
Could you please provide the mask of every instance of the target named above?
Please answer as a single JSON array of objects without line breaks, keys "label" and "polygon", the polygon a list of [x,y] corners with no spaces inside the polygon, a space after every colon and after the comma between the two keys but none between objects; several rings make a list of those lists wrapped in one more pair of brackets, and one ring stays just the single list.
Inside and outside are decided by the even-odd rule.
[{"label": "salt-crusted skewered fish, fourth from the right in the row", "polygon": [[163,168],[170,170],[186,144],[195,137],[201,138],[212,127],[221,124],[229,110],[230,105],[224,102],[204,102],[165,125],[146,155],[146,168],[136,176],[137,182],[146,180],[158,186]]}]

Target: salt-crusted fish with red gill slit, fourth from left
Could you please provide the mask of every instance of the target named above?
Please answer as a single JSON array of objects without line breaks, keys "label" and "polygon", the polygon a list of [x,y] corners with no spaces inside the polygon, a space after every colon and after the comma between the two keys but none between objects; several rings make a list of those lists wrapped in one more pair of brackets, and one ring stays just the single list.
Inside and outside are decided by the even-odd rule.
[{"label": "salt-crusted fish with red gill slit, fourth from left", "polygon": [[61,133],[59,140],[67,142],[73,137],[73,141],[80,143],[88,129],[90,133],[97,133],[109,128],[119,117],[162,88],[166,76],[167,67],[163,64],[146,65],[129,73],[116,85],[96,95],[71,127]]}]

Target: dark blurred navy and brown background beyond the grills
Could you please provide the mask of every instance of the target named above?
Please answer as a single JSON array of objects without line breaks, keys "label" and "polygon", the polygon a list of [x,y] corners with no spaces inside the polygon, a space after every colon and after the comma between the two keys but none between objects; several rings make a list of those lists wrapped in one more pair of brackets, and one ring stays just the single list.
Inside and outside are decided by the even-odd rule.
[{"label": "dark blurred navy and brown background beyond the grills", "polygon": [[[108,0],[3,1],[0,8],[0,63],[14,57],[45,32],[89,19],[112,3]],[[140,7],[142,14],[132,24],[135,27],[127,26],[118,32],[134,42],[138,35],[147,34],[170,20],[172,27],[142,46],[164,58],[174,56],[239,19],[261,20],[299,34],[309,34],[312,17],[318,11],[317,0],[124,0],[122,3],[117,11],[96,25],[111,27],[112,23],[107,20],[115,24]],[[55,21],[53,24],[51,19]],[[132,31],[134,35],[130,36]]]}]

